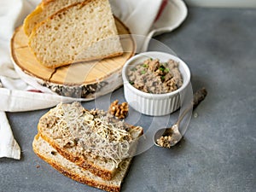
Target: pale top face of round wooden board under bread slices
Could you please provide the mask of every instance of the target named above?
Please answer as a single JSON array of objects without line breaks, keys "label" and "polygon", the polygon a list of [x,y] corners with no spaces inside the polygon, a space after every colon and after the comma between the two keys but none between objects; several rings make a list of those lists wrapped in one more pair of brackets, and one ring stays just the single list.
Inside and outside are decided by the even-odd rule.
[{"label": "pale top face of round wooden board under bread slices", "polygon": [[26,73],[26,76],[41,82],[40,84],[60,86],[98,84],[109,79],[115,73],[121,73],[125,61],[135,54],[136,45],[131,37],[131,32],[120,20],[115,19],[115,22],[124,49],[123,55],[101,61],[79,62],[50,69],[38,63],[28,47],[28,38],[20,26],[15,30],[10,44],[12,59],[22,73]]}]

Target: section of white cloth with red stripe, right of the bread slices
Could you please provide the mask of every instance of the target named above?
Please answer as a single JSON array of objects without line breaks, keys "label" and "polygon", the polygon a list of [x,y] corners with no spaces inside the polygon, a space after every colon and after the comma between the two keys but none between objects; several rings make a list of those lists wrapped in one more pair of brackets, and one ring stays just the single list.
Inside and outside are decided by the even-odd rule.
[{"label": "section of white cloth with red stripe, right of the bread slices", "polygon": [[109,0],[119,17],[137,39],[137,52],[144,52],[154,35],[171,32],[188,14],[182,0]]}]

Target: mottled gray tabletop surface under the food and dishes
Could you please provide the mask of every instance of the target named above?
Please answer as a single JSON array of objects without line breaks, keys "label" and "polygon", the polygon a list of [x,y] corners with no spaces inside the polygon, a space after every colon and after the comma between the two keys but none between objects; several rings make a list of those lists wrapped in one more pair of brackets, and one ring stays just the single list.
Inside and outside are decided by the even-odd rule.
[{"label": "mottled gray tabletop surface under the food and dishes", "polygon": [[[182,26],[156,37],[188,63],[193,89],[205,86],[208,96],[176,147],[152,146],[134,158],[123,192],[255,191],[255,20],[256,9],[189,8]],[[113,98],[124,101],[123,89]],[[101,191],[62,176],[33,153],[38,119],[46,111],[7,113],[22,158],[0,159],[0,191]],[[171,116],[170,124],[177,113]],[[147,131],[151,120],[142,115],[137,124]]]}]

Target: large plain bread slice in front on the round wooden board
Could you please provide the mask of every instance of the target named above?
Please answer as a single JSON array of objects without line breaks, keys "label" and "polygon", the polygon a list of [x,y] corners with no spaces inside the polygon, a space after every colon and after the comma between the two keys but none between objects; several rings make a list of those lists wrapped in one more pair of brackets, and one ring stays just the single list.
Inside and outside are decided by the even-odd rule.
[{"label": "large plain bread slice in front on the round wooden board", "polygon": [[59,10],[33,28],[28,45],[49,68],[123,54],[108,0],[85,0]]}]

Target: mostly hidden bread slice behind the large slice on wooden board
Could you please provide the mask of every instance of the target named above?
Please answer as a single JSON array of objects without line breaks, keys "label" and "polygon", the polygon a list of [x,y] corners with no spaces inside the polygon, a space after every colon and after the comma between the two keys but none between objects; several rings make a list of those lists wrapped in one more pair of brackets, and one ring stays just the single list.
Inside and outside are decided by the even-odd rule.
[{"label": "mostly hidden bread slice behind the large slice on wooden board", "polygon": [[29,37],[33,28],[50,15],[55,14],[55,12],[73,3],[81,3],[83,1],[84,0],[43,0],[30,15],[26,16],[23,22],[23,29],[26,36]]}]

